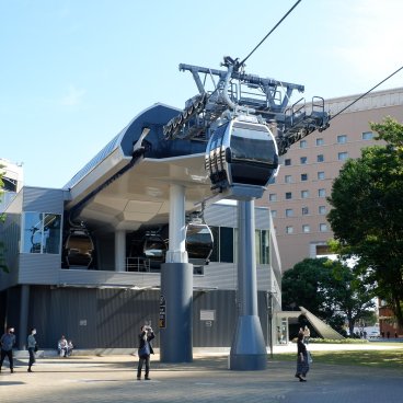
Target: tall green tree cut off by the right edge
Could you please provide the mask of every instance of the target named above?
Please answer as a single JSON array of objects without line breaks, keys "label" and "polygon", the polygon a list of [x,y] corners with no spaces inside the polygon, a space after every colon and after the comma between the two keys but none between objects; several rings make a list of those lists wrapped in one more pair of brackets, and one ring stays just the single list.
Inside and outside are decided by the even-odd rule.
[{"label": "tall green tree cut off by the right edge", "polygon": [[327,220],[339,252],[358,257],[356,272],[403,325],[403,126],[387,117],[370,127],[384,146],[345,163],[333,183]]}]

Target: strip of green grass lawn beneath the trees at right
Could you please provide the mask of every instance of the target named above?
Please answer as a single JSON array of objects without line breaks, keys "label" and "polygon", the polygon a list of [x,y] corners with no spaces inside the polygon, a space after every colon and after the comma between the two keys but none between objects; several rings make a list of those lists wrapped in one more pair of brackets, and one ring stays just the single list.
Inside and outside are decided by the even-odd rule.
[{"label": "strip of green grass lawn beneath the trees at right", "polygon": [[[365,366],[372,368],[391,368],[403,370],[403,348],[377,350],[339,350],[312,352],[313,364],[331,364],[345,366]],[[279,361],[296,360],[297,353],[275,354],[274,359]]]}]

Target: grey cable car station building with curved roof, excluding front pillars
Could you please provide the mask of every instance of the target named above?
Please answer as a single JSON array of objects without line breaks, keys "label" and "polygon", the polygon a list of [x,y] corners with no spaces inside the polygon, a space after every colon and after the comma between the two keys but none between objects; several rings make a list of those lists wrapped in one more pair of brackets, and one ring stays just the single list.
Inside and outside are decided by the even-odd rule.
[{"label": "grey cable car station building with curved roof, excluding front pillars", "polygon": [[[56,348],[61,334],[78,349],[135,348],[145,323],[160,347],[160,327],[170,326],[161,316],[161,266],[184,253],[193,264],[193,347],[231,346],[241,298],[237,206],[204,208],[211,197],[206,143],[163,138],[163,126],[177,114],[151,106],[65,187],[25,186],[5,207],[1,238],[10,273],[0,273],[0,323],[15,327],[19,348],[32,326],[41,348]],[[177,206],[185,222],[172,217]],[[281,269],[268,209],[254,208],[253,216],[257,310],[268,345],[270,337],[278,341],[278,330],[287,339],[286,320],[274,314],[280,311]],[[170,251],[181,243],[173,239],[183,227],[185,252]]]}]

